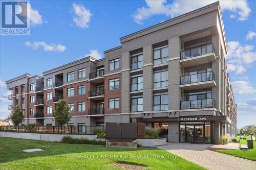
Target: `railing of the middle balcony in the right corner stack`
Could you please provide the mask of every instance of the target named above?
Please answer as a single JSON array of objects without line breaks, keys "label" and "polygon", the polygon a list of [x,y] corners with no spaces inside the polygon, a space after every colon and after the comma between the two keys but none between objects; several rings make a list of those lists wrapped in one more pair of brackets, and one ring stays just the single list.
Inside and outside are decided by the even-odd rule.
[{"label": "railing of the middle balcony in the right corner stack", "polygon": [[202,73],[194,74],[194,75],[182,76],[182,77],[180,77],[180,85],[205,82],[205,81],[211,81],[211,80],[215,81],[214,71],[208,71],[208,72],[202,72]]}]

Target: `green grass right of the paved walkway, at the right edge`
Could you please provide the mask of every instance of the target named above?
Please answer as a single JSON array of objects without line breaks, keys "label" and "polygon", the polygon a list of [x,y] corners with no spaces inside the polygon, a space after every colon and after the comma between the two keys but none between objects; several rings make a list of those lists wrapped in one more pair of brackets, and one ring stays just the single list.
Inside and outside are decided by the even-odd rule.
[{"label": "green grass right of the paved walkway, at the right edge", "polygon": [[[250,136],[242,136],[242,137],[246,137],[247,139],[251,139]],[[239,140],[240,136],[238,136],[236,138]],[[247,139],[240,139],[240,144],[246,144],[247,145]],[[248,151],[220,150],[220,151],[217,151],[217,152],[256,161],[256,141],[253,141],[253,147],[254,147],[253,149],[249,149]]]}]

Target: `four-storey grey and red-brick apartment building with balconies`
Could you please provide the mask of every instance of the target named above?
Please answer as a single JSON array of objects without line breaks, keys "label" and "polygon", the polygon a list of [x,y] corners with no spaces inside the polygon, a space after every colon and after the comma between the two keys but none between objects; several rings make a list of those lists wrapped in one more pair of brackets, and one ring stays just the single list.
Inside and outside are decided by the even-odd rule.
[{"label": "four-storey grey and red-brick apartment building with balconies", "polygon": [[219,2],[120,38],[104,58],[86,57],[6,82],[23,124],[57,126],[59,99],[67,126],[145,123],[171,142],[214,143],[236,135],[237,105],[226,67]]}]

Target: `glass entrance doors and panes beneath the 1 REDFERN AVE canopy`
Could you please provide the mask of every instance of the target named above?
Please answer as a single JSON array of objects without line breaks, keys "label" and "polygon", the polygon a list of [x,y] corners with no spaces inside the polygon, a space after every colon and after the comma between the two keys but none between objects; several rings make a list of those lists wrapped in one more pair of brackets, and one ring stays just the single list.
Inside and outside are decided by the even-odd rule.
[{"label": "glass entrance doors and panes beneath the 1 REDFERN AVE canopy", "polygon": [[211,122],[180,122],[180,142],[212,143],[213,125]]}]

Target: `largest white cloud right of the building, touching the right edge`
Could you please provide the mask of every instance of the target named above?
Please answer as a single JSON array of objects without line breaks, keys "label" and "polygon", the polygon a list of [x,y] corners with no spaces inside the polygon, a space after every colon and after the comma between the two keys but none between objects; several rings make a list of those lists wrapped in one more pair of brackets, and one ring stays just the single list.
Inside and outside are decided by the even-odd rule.
[{"label": "largest white cloud right of the building, touching the right edge", "polygon": [[250,64],[256,60],[256,52],[253,45],[243,45],[239,41],[227,42],[229,63]]}]

